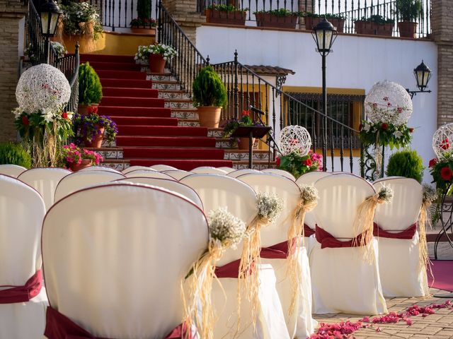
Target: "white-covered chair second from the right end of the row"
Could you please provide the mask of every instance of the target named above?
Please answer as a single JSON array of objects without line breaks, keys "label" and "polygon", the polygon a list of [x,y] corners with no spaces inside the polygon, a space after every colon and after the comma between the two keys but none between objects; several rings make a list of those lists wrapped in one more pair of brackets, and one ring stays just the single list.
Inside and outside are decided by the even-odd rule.
[{"label": "white-covered chair second from the right end of the row", "polygon": [[[335,174],[315,182],[319,192],[314,208],[318,226],[345,242],[361,232],[354,230],[357,208],[376,191],[365,179],[351,174]],[[372,239],[374,261],[363,258],[363,248],[321,249],[315,235],[309,238],[309,259],[313,310],[315,314],[382,314],[386,303],[379,279],[377,240]],[[329,278],[330,277],[330,278]]]}]

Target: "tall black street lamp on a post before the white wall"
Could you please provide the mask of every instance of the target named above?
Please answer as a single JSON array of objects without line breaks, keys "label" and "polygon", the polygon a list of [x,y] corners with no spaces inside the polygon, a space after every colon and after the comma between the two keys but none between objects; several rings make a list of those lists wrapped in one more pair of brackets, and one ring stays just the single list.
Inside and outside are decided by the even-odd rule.
[{"label": "tall black street lamp on a post before the white wall", "polygon": [[[332,52],[333,42],[337,37],[337,30],[331,23],[326,20],[326,17],[313,28],[313,39],[316,42],[316,51],[322,57],[322,71],[323,71],[323,170],[327,170],[327,90],[326,90],[326,57]],[[333,164],[332,164],[333,166]]]}]

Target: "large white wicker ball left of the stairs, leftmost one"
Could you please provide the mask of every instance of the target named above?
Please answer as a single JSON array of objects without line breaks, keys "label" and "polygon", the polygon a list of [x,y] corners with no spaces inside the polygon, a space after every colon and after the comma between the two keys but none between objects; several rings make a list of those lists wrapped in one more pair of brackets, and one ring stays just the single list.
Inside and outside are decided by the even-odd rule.
[{"label": "large white wicker ball left of the stairs, leftmost one", "polygon": [[49,64],[30,67],[22,73],[16,87],[19,107],[28,113],[61,108],[70,96],[71,86],[66,76]]}]

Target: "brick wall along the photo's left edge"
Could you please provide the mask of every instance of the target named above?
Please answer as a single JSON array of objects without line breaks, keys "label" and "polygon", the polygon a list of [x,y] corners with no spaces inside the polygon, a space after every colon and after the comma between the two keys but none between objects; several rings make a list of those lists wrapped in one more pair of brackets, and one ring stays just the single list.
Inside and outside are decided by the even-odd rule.
[{"label": "brick wall along the photo's left edge", "polygon": [[19,20],[28,6],[0,0],[0,142],[16,140],[11,110],[17,107]]}]

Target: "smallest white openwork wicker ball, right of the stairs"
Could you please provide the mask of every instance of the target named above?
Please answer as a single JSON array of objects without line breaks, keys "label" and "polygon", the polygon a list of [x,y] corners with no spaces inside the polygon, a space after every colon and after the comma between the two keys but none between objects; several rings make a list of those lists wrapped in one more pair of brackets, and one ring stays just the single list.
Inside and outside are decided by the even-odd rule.
[{"label": "smallest white openwork wicker ball, right of the stairs", "polygon": [[297,153],[307,155],[311,148],[309,131],[302,126],[286,126],[280,131],[280,151],[283,155]]}]

